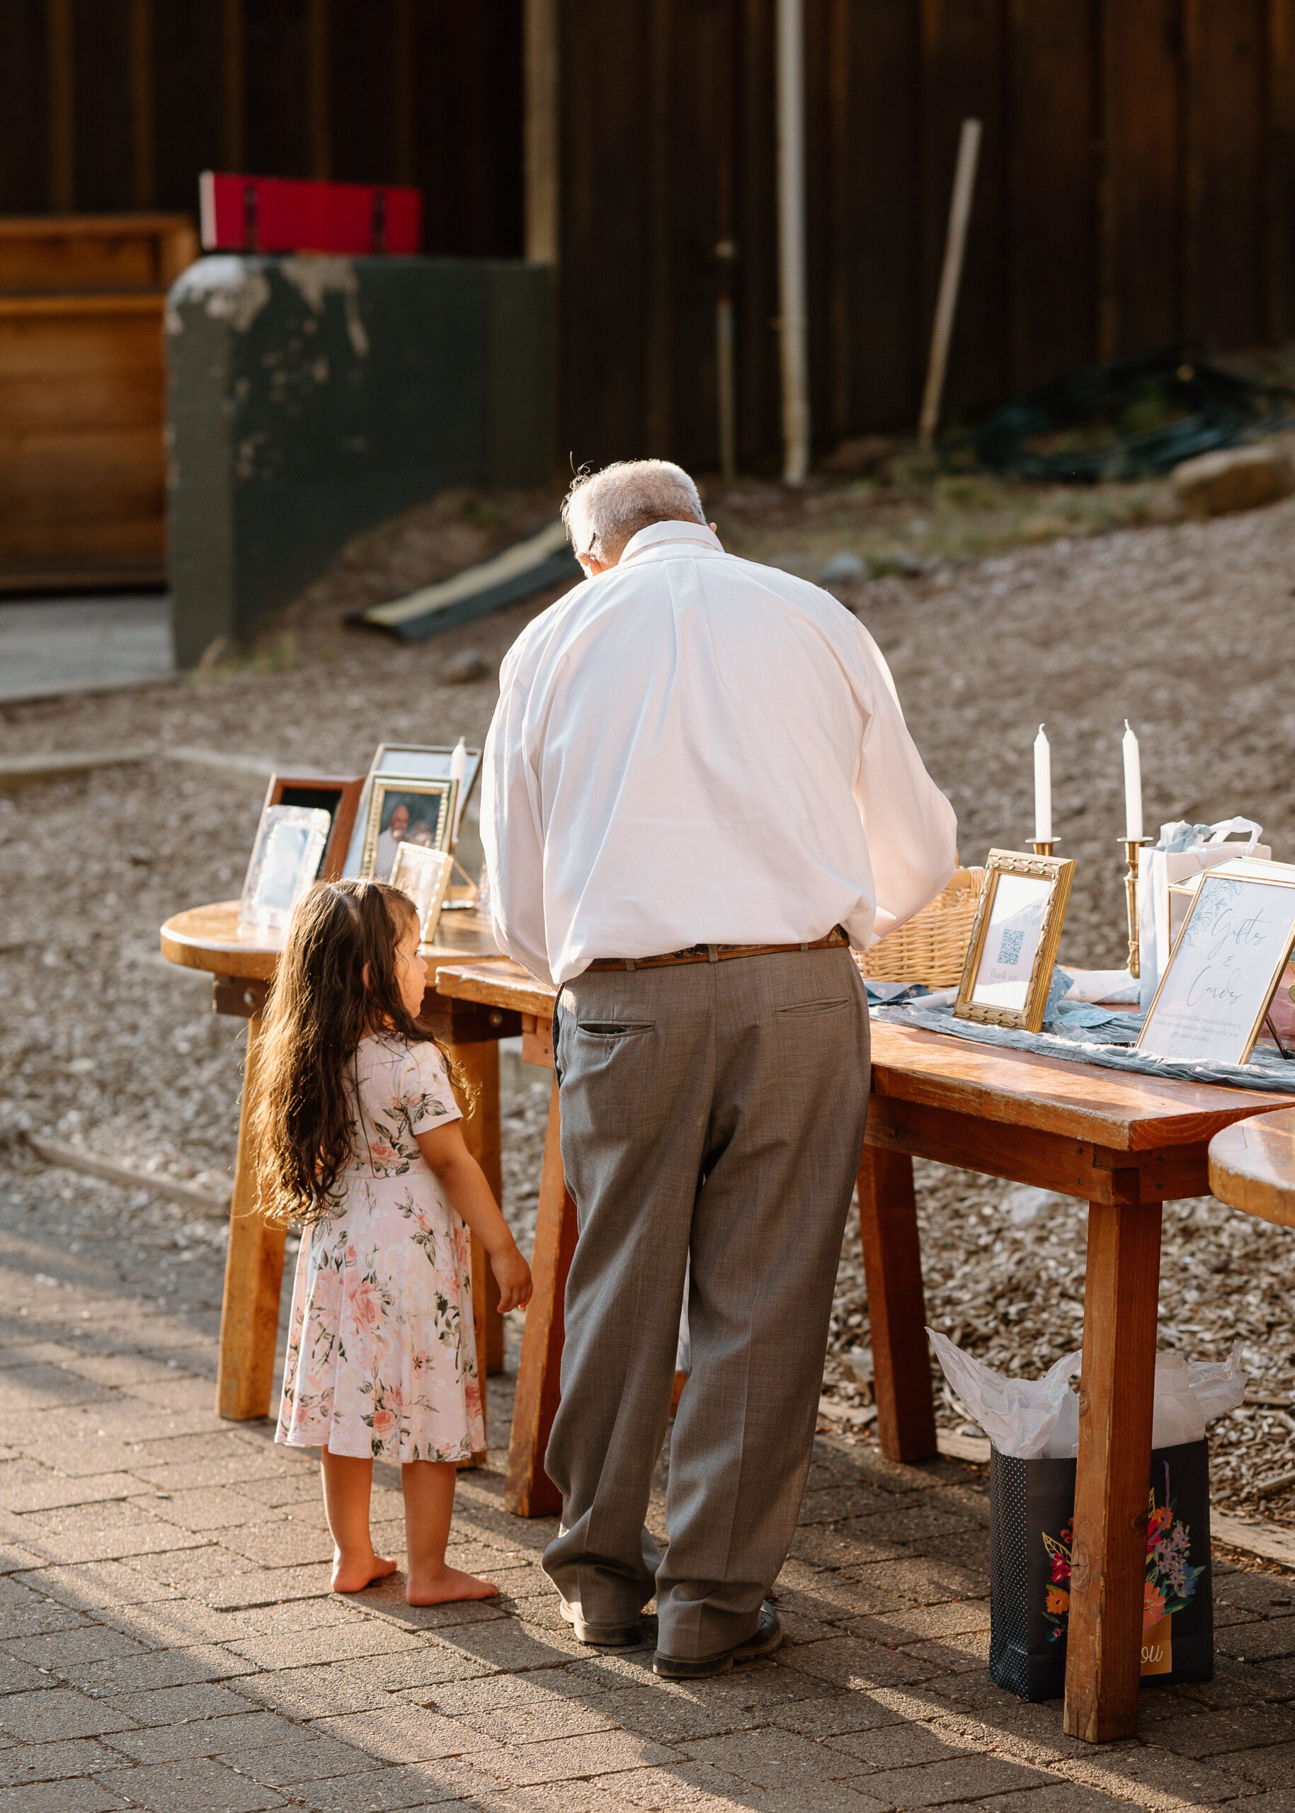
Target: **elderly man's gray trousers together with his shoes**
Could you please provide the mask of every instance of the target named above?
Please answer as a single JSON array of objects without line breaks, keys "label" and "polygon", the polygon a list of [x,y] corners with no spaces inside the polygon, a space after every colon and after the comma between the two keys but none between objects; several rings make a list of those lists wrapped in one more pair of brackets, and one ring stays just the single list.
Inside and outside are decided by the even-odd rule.
[{"label": "elderly man's gray trousers together with his shoes", "polygon": [[[599,1623],[655,1592],[658,1648],[715,1655],[755,1632],[809,1472],[867,1119],[863,984],[845,948],[591,970],[553,1024],[580,1238],[544,1570]],[[689,1255],[662,1557],[644,1516]]]}]

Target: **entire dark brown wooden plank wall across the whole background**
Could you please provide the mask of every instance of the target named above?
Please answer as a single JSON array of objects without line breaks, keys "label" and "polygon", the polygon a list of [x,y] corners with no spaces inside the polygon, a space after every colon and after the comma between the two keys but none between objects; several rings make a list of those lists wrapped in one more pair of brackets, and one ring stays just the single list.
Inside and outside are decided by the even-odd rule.
[{"label": "entire dark brown wooden plank wall across the whole background", "polygon": [[[1179,334],[1295,335],[1295,0],[805,0],[805,20],[820,448],[916,421],[967,114],[954,413]],[[0,212],[192,208],[212,165],[417,181],[432,252],[519,254],[528,221],[560,257],[564,459],[702,468],[731,243],[751,468],[780,439],[773,25],[774,0],[4,0]],[[526,132],[522,42],[559,69]],[[524,143],[531,172],[551,152],[548,216]]]}]

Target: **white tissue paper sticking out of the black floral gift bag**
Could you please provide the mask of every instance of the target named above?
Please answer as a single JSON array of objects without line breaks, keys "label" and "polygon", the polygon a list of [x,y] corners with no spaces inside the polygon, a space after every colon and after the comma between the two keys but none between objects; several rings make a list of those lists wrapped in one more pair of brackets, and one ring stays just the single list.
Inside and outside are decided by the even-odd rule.
[{"label": "white tissue paper sticking out of the black floral gift bag", "polygon": [[[927,1329],[950,1391],[979,1423],[999,1454],[1019,1459],[1074,1459],[1079,1452],[1079,1398],[1070,1380],[1081,1352],[1065,1354],[1037,1380],[1003,1378],[954,1347],[947,1334]],[[1199,1441],[1206,1423],[1235,1411],[1246,1396],[1241,1343],[1224,1362],[1155,1354],[1155,1411],[1152,1447],[1172,1449]]]}]

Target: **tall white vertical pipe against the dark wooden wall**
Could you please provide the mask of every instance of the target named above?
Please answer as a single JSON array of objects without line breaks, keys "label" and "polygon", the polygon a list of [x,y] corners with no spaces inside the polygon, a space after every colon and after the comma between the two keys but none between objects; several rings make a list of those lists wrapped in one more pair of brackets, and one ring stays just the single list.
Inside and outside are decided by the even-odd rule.
[{"label": "tall white vertical pipe against the dark wooden wall", "polygon": [[809,323],[805,315],[805,25],[802,0],[778,0],[778,301],[782,477],[809,477]]}]

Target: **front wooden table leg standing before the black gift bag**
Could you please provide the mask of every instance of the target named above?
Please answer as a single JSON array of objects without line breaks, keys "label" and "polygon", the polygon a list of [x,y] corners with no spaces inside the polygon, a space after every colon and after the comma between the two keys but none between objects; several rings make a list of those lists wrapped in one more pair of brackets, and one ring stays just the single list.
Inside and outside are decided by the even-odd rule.
[{"label": "front wooden table leg standing before the black gift bag", "polygon": [[1088,1204],[1065,1728],[1134,1737],[1152,1472],[1161,1206]]}]

